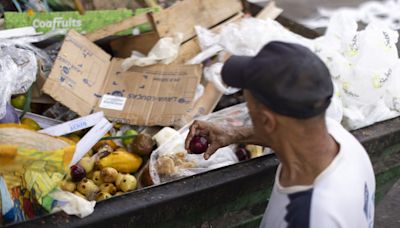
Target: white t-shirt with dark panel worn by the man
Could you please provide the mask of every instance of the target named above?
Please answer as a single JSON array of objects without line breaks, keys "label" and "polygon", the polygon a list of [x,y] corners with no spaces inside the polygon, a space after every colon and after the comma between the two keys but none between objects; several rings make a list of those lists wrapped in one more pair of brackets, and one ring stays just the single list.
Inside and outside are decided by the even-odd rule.
[{"label": "white t-shirt with dark panel worn by the man", "polygon": [[339,153],[310,186],[282,187],[279,165],[260,227],[373,227],[375,176],[368,154],[339,123],[327,118],[326,124]]}]

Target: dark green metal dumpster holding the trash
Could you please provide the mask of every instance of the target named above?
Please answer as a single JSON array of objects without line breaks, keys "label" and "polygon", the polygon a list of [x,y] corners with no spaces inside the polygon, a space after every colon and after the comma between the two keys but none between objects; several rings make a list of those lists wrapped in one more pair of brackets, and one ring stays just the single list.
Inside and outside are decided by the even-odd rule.
[{"label": "dark green metal dumpster holding the trash", "polygon": [[[277,21],[305,37],[318,36],[283,16]],[[352,133],[373,162],[379,201],[400,176],[400,118]],[[60,212],[6,227],[257,227],[278,163],[265,155],[110,198],[84,219]]]}]

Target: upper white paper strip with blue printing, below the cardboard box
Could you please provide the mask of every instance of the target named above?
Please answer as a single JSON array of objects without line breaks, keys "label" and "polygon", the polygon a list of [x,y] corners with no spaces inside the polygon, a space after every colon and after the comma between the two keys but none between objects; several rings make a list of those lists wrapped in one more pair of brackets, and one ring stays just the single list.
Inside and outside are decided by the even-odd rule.
[{"label": "upper white paper strip with blue printing, below the cardboard box", "polygon": [[74,119],[62,124],[48,127],[39,131],[40,133],[48,134],[51,136],[66,135],[75,131],[89,128],[97,124],[104,117],[103,112],[96,112],[94,114]]}]

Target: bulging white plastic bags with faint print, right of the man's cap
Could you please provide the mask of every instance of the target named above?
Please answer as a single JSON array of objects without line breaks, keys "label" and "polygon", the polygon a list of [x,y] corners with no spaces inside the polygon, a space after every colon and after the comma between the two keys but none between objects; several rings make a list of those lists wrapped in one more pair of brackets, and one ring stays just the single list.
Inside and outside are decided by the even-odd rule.
[{"label": "bulging white plastic bags with faint print, right of the man's cap", "polygon": [[342,14],[332,18],[326,35],[316,41],[339,87],[347,129],[400,115],[393,105],[400,89],[397,41],[398,33],[380,23],[357,31],[356,22]]}]

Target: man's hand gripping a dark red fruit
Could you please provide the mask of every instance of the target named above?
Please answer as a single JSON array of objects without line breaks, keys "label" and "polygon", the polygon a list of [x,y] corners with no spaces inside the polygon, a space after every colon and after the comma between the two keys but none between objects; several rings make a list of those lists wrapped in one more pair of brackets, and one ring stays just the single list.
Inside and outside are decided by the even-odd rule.
[{"label": "man's hand gripping a dark red fruit", "polygon": [[234,143],[234,134],[229,127],[221,127],[209,122],[195,120],[190,126],[189,134],[186,137],[185,149],[189,150],[190,141],[196,135],[204,136],[208,139],[209,146],[204,153],[204,159],[208,160],[219,148]]}]

